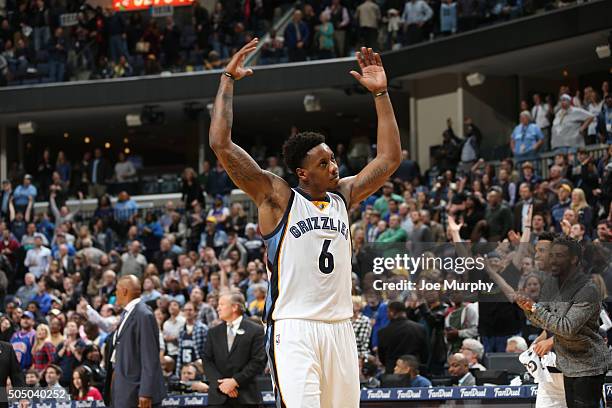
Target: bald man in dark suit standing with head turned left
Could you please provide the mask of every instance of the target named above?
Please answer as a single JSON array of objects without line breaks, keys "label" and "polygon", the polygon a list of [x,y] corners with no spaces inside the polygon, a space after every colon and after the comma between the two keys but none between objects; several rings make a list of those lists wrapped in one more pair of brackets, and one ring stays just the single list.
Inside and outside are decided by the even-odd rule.
[{"label": "bald man in dark suit standing with head turned left", "polygon": [[123,312],[113,336],[112,406],[159,407],[166,396],[159,360],[159,327],[151,309],[140,301],[140,280],[136,276],[119,279],[117,305]]}]

